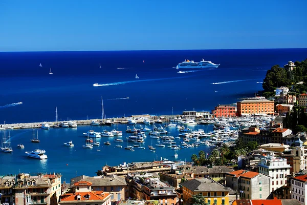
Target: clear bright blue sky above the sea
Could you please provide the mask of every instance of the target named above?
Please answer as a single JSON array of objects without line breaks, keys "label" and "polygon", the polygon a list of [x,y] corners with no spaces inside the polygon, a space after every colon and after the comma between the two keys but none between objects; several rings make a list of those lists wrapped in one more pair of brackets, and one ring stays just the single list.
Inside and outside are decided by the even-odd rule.
[{"label": "clear bright blue sky above the sea", "polygon": [[0,51],[307,48],[306,0],[0,1]]}]

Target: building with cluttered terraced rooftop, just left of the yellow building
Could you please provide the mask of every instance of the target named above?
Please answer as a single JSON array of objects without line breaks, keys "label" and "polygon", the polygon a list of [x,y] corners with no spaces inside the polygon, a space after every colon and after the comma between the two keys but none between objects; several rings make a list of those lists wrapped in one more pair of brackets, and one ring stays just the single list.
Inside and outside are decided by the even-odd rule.
[{"label": "building with cluttered terraced rooftop, just left of the yellow building", "polygon": [[160,204],[179,204],[178,193],[173,187],[153,178],[151,173],[125,176],[128,183],[128,196],[136,199],[158,200]]}]

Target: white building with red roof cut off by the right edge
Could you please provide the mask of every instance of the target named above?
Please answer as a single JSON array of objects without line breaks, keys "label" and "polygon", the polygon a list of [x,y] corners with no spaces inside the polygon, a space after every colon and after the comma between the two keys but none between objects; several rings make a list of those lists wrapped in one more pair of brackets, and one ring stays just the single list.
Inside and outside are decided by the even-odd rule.
[{"label": "white building with red roof cut off by the right edge", "polygon": [[306,204],[307,175],[291,178],[291,199],[297,199],[300,204]]}]

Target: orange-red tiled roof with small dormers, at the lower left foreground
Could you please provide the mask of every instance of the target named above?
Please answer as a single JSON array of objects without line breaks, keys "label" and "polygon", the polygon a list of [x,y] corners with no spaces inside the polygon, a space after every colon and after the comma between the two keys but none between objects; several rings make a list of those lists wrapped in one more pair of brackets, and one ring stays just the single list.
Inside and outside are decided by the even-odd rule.
[{"label": "orange-red tiled roof with small dormers, at the lower left foreground", "polygon": [[[89,201],[89,200],[104,200],[109,194],[103,191],[89,191],[89,192],[76,192],[67,193],[61,196],[61,201]],[[78,200],[78,196],[80,196]]]}]

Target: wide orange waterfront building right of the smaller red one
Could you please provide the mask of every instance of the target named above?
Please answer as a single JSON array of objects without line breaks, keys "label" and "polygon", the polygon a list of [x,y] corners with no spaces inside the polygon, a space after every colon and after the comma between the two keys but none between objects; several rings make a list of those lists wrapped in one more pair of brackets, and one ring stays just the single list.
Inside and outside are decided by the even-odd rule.
[{"label": "wide orange waterfront building right of the smaller red one", "polygon": [[237,102],[238,116],[274,114],[274,101],[251,99]]}]

